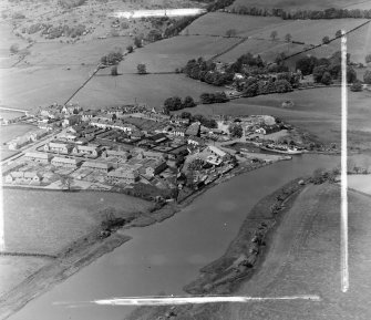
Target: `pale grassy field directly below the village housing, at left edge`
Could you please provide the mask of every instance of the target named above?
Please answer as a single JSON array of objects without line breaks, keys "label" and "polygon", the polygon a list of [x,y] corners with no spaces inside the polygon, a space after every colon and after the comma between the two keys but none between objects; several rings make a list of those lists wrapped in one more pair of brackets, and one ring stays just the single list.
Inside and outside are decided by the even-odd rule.
[{"label": "pale grassy field directly below the village housing, at left edge", "polygon": [[102,210],[125,216],[152,206],[123,194],[4,189],[6,249],[56,254],[100,225]]}]

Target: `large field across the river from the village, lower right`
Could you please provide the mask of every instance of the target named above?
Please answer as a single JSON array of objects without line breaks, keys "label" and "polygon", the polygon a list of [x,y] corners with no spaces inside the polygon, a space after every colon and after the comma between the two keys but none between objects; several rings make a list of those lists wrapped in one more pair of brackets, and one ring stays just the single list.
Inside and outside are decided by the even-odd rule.
[{"label": "large field across the river from the village, lower right", "polygon": [[319,295],[315,301],[228,304],[220,319],[370,319],[368,261],[370,197],[349,193],[350,289],[340,287],[340,190],[311,186],[297,199],[271,238],[259,271],[236,295]]}]

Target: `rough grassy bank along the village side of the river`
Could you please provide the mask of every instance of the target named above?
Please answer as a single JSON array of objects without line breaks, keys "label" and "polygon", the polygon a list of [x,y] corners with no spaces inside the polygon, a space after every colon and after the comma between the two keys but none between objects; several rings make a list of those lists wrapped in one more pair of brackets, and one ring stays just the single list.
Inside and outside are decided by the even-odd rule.
[{"label": "rough grassy bank along the village side of the river", "polygon": [[[270,163],[256,163],[238,166],[230,171],[227,175],[219,177],[214,183],[189,195],[178,204],[168,203],[161,208],[154,207],[153,209],[137,211],[132,215],[127,214],[124,216],[126,218],[126,223],[124,223],[124,225],[120,228],[120,233],[114,233],[113,230],[111,236],[107,238],[101,237],[101,231],[104,230],[104,227],[96,227],[89,235],[66,246],[62,251],[55,252],[55,259],[52,259],[51,262],[29,276],[8,293],[3,295],[0,298],[0,318],[8,318],[10,314],[21,309],[30,300],[39,297],[47,290],[50,290],[52,287],[64,281],[68,277],[78,272],[80,269],[93,262],[99,257],[112,251],[127,241],[130,237],[123,235],[125,230],[134,227],[146,227],[156,223],[162,223],[186,208],[194,199],[212,187],[227,182],[237,175],[269,164]],[[55,195],[56,192],[52,194]],[[114,210],[112,211],[115,214]],[[118,214],[115,215],[120,217]]]}]

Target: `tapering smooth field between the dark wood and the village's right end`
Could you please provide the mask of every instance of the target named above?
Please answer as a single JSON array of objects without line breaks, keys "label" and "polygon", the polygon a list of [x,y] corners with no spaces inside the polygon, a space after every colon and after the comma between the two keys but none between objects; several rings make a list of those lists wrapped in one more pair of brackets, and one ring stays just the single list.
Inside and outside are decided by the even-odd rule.
[{"label": "tapering smooth field between the dark wood and the village's right end", "polygon": [[[368,107],[370,93],[349,92],[349,141],[352,147],[368,147],[371,132],[371,114]],[[290,100],[293,107],[282,109]],[[187,110],[193,113],[215,114],[271,114],[311,133],[323,142],[340,142],[341,91],[339,87],[295,91],[286,94],[269,94],[239,99],[225,104],[198,105]]]}]

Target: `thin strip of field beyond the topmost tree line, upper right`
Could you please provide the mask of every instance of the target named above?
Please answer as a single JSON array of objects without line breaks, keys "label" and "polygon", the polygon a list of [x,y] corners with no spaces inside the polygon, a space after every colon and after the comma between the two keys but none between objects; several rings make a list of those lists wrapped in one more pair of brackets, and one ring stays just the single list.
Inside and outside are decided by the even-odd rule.
[{"label": "thin strip of field beyond the topmost tree line, upper right", "polygon": [[300,9],[300,10],[324,10],[328,8],[343,8],[343,9],[370,9],[370,1],[364,0],[236,0],[230,8],[248,6],[259,8],[285,8],[285,9]]}]

